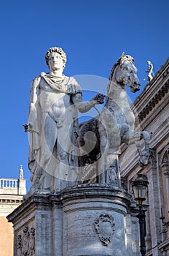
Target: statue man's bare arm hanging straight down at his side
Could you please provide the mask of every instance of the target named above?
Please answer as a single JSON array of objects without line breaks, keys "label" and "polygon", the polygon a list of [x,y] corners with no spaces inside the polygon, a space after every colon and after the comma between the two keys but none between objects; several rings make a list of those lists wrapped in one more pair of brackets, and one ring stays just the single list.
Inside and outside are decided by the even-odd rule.
[{"label": "statue man's bare arm hanging straight down at his side", "polygon": [[36,120],[36,102],[39,97],[39,83],[41,78],[35,78],[31,83],[30,93],[30,105],[28,114],[28,128],[31,129],[34,126]]}]

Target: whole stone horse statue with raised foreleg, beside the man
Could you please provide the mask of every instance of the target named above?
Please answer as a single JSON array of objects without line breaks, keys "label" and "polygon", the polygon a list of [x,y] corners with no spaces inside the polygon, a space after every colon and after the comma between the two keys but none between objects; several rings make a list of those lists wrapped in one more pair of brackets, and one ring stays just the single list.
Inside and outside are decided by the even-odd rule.
[{"label": "whole stone horse statue with raised foreleg, beside the man", "polygon": [[[79,170],[90,172],[95,169],[96,182],[121,186],[119,154],[122,143],[135,143],[140,155],[140,165],[144,167],[149,159],[149,133],[135,132],[135,116],[130,108],[125,86],[135,93],[140,90],[137,69],[132,56],[122,53],[111,69],[107,87],[106,104],[101,113],[89,121],[79,124]],[[144,150],[140,140],[144,138]],[[80,177],[80,174],[79,174]],[[79,178],[83,182],[84,179]],[[85,181],[87,182],[87,181]]]}]

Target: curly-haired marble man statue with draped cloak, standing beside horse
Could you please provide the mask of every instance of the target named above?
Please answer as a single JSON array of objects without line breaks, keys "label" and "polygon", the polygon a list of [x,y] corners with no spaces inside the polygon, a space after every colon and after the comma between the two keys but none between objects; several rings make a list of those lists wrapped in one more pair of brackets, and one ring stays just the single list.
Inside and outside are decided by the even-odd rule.
[{"label": "curly-haired marble man statue with draped cloak, standing beside horse", "polygon": [[78,175],[78,116],[95,104],[103,103],[103,94],[82,101],[82,90],[73,77],[63,75],[66,53],[52,47],[45,56],[49,73],[42,72],[31,83],[28,115],[32,194],[38,189],[63,189]]}]

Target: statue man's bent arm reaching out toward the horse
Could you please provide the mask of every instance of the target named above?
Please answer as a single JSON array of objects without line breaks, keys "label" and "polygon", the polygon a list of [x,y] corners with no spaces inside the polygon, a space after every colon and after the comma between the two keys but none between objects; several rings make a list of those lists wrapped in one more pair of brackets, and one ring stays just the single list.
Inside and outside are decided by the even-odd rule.
[{"label": "statue man's bent arm reaching out toward the horse", "polygon": [[97,94],[95,97],[93,97],[93,99],[90,99],[89,102],[83,102],[82,94],[77,93],[74,94],[71,99],[79,112],[85,113],[90,110],[90,108],[93,108],[96,104],[102,104],[104,97],[105,96],[103,94]]}]

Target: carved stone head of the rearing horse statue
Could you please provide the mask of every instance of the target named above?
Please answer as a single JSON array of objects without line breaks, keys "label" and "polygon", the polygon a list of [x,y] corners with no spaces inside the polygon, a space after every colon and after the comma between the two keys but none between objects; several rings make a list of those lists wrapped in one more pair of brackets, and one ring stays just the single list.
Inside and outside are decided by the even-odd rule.
[{"label": "carved stone head of the rearing horse statue", "polygon": [[[141,83],[138,80],[137,68],[134,65],[134,59],[130,55],[122,53],[121,58],[117,61],[114,68],[114,76],[117,83],[123,86],[129,86],[130,91],[136,92],[140,90]],[[112,71],[112,70],[111,70]]]}]

